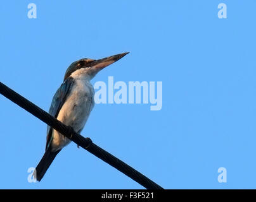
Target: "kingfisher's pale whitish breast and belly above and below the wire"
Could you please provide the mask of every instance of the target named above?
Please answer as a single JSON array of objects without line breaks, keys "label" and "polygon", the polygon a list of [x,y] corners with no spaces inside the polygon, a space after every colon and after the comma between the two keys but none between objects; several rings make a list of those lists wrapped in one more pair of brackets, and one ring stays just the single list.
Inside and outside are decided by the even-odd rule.
[{"label": "kingfisher's pale whitish breast and belly above and below the wire", "polygon": [[[67,100],[61,107],[57,119],[67,126],[72,126],[80,133],[94,107],[94,88],[86,79],[75,79]],[[70,143],[65,136],[53,130],[52,151],[58,150]]]}]

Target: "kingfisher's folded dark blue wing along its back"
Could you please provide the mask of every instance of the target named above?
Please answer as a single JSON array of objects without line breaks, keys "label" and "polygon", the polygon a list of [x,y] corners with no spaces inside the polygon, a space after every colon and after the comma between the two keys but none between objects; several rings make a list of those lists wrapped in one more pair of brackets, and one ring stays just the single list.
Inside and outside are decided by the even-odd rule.
[{"label": "kingfisher's folded dark blue wing along its back", "polygon": [[[51,102],[51,107],[49,109],[49,114],[51,116],[57,118],[58,114],[60,112],[61,107],[63,106],[68,93],[70,92],[72,85],[74,84],[74,78],[71,76],[65,80],[60,88],[56,91],[53,101]],[[50,126],[47,126],[47,137],[46,137],[46,149],[49,147],[51,143],[51,134],[52,134],[53,129]]]}]

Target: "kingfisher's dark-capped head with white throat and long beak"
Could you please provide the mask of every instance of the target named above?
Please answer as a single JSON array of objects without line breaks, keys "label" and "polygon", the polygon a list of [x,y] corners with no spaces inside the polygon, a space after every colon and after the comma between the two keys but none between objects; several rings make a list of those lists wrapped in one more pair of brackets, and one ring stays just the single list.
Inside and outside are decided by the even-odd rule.
[{"label": "kingfisher's dark-capped head with white throat and long beak", "polygon": [[69,77],[87,77],[91,80],[101,69],[106,68],[106,66],[112,64],[113,62],[118,61],[129,52],[124,52],[122,54],[117,54],[115,56],[105,57],[103,59],[80,59],[79,61],[75,61],[68,67],[64,81]]}]

